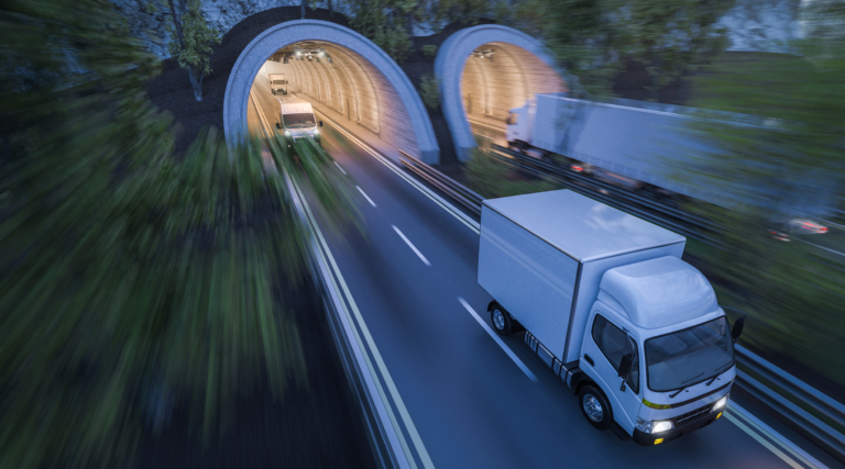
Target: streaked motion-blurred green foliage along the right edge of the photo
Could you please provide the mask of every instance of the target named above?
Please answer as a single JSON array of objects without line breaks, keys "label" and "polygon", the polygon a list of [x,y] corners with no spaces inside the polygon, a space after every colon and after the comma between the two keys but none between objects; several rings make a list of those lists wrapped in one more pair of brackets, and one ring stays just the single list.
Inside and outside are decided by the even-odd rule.
[{"label": "streaked motion-blurred green foliage along the right edge of the photo", "polygon": [[845,205],[845,35],[830,27],[845,24],[845,4],[813,2],[808,18],[806,37],[791,44],[801,56],[717,62],[696,80],[696,105],[756,116],[698,121],[691,132],[711,150],[678,178],[726,196],[731,210],[692,210],[723,227],[729,249],[699,256],[747,309],[743,340],[845,386],[845,259],[813,246],[841,234],[769,236]]}]

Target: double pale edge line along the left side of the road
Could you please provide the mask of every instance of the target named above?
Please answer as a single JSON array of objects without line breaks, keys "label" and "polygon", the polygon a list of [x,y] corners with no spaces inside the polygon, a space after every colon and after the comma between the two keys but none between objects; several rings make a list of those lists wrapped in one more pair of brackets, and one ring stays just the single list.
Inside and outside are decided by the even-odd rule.
[{"label": "double pale edge line along the left side of the road", "polygon": [[[266,132],[270,129],[270,123],[267,122],[266,116],[264,115],[264,111],[259,105],[254,94],[252,92],[250,92],[250,94],[253,100],[253,105],[255,107],[255,110],[259,114],[260,123],[264,124],[264,130]],[[399,412],[399,416],[402,417],[403,423],[405,424],[405,428],[407,429],[410,436],[410,439],[414,443],[414,446],[417,450],[417,455],[419,456],[419,459],[422,462],[422,467],[425,469],[434,469],[435,465],[431,461],[431,458],[428,455],[428,451],[426,450],[426,446],[422,444],[422,439],[420,438],[419,433],[417,432],[417,428],[410,418],[410,414],[408,413],[408,410],[405,407],[405,403],[403,402],[402,397],[399,395],[398,389],[396,389],[396,384],[394,383],[389,371],[387,371],[387,366],[385,365],[384,359],[378,353],[378,348],[375,346],[375,342],[373,340],[373,337],[370,334],[370,330],[366,327],[366,323],[364,322],[364,319],[361,315],[361,311],[359,311],[358,309],[358,304],[355,303],[355,300],[352,297],[352,292],[349,290],[347,282],[343,280],[343,276],[340,272],[340,267],[338,267],[337,263],[334,261],[334,257],[331,255],[331,249],[329,249],[329,246],[326,243],[326,238],[322,236],[322,232],[320,231],[320,227],[317,224],[317,220],[311,213],[311,210],[308,206],[305,196],[301,193],[300,189],[296,187],[296,185],[293,183],[293,181],[290,182],[292,182],[290,186],[294,189],[293,196],[295,198],[295,201],[297,202],[297,204],[300,204],[305,209],[307,220],[309,221],[309,224],[312,226],[314,233],[316,234],[316,237],[317,237],[316,242],[319,242],[318,248],[316,249],[316,254],[322,260],[320,266],[323,267],[322,264],[329,265],[330,270],[333,273],[332,276],[332,275],[328,275],[328,272],[323,272],[323,276],[329,277],[330,284],[333,287],[333,291],[336,293],[340,289],[338,288],[338,284],[334,282],[334,279],[337,278],[338,282],[340,282],[340,288],[342,289],[343,295],[345,297],[345,300],[347,300],[347,302],[342,302],[342,301],[340,302],[342,306],[341,309],[345,313],[345,316],[347,316],[345,319],[349,322],[349,324],[355,323],[355,321],[352,320],[352,315],[350,314],[349,309],[347,308],[347,303],[349,303],[349,306],[352,309],[352,312],[354,313],[354,317],[356,320],[358,326],[361,328],[361,333],[364,335],[364,339],[366,340],[366,345],[369,346],[370,353],[373,355],[373,358],[375,359],[378,370],[381,371],[382,378],[384,379],[384,382],[387,386],[387,389],[391,393],[391,398],[393,398],[393,402]],[[319,247],[322,247],[322,249],[320,249]],[[359,345],[359,347],[361,349],[364,349],[364,343],[361,340],[361,336],[359,335],[358,330],[355,327],[352,327],[352,333],[354,335],[355,342]],[[410,453],[410,449],[408,448],[407,442],[405,440],[403,432],[398,425],[398,422],[396,421],[396,416],[393,413],[393,410],[389,405],[389,401],[385,395],[384,389],[382,388],[380,380],[376,379],[377,373],[375,372],[373,364],[370,360],[370,357],[367,356],[367,354],[363,354],[363,358],[367,369],[370,370],[370,377],[374,381],[374,384],[377,389],[382,404],[384,405],[384,409],[387,411],[389,421],[393,424],[392,425],[393,435],[398,439],[398,443],[402,446],[403,454],[406,457],[407,464],[409,465],[409,467],[413,469],[417,469],[414,455]],[[405,465],[402,465],[402,461],[399,462],[400,462],[400,466],[407,467]]]}]

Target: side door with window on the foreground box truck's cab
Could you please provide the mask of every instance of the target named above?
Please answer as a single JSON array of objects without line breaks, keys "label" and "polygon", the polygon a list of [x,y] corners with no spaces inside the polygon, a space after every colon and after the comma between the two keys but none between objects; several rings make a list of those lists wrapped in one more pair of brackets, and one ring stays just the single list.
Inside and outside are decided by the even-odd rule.
[{"label": "side door with window on the foreground box truck's cab", "polygon": [[[634,433],[634,424],[639,414],[643,399],[639,395],[639,353],[636,340],[626,334],[622,327],[608,320],[610,315],[601,311],[593,312],[590,333],[584,337],[582,353],[592,360],[595,375],[603,381],[603,390],[613,406],[613,417],[628,434]],[[622,379],[618,377],[619,364],[625,354],[634,354],[634,367],[625,381],[625,390],[621,390]],[[582,357],[581,364],[590,365]]]}]

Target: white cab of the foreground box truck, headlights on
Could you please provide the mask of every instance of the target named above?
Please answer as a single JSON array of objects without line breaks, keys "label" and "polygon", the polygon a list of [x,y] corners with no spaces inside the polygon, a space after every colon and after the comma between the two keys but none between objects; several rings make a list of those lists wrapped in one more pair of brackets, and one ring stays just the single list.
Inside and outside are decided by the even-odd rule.
[{"label": "white cab of the foreground box truck, headlights on", "polygon": [[[630,365],[623,369],[626,356]],[[588,421],[597,428],[618,425],[647,446],[721,417],[736,375],[727,317],[713,289],[672,256],[604,275],[579,368],[583,375],[573,384]]]}]

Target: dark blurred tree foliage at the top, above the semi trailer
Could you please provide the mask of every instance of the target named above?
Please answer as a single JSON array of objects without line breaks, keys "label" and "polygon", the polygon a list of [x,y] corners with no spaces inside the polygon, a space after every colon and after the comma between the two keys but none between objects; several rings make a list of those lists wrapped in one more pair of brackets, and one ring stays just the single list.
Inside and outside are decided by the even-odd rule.
[{"label": "dark blurred tree foliage at the top, above the semi trailer", "polygon": [[[512,21],[540,35],[568,72],[578,77],[578,92],[612,93],[611,79],[628,60],[646,65],[651,99],[683,79],[706,57],[727,45],[716,22],[735,0],[527,0],[515,9],[497,9],[500,21]],[[574,85],[574,83],[571,83]]]}]

